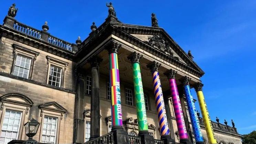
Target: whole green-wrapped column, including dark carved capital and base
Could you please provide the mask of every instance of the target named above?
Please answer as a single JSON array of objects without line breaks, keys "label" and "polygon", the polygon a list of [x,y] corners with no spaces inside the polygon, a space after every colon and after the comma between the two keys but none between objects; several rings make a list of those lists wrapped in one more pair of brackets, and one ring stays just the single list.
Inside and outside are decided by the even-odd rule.
[{"label": "whole green-wrapped column, including dark carved capital and base", "polygon": [[149,135],[149,132],[148,132],[148,121],[147,121],[144,93],[143,93],[142,80],[141,80],[141,74],[140,74],[139,61],[142,58],[142,55],[134,52],[130,54],[127,58],[130,59],[132,63],[135,103],[136,103],[136,110],[137,110],[137,121],[138,121],[139,136],[141,137],[141,143],[142,144],[153,143],[154,139],[152,136]]}]

